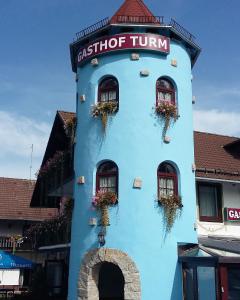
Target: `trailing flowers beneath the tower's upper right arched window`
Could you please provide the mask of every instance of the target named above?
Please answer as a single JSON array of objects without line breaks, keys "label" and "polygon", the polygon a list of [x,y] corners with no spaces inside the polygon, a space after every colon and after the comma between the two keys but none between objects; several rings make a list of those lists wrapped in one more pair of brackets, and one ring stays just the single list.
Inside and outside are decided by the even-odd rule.
[{"label": "trailing flowers beneath the tower's upper right arched window", "polygon": [[159,101],[156,105],[155,113],[157,116],[164,118],[165,122],[162,132],[162,137],[164,139],[171,122],[176,122],[179,117],[177,106],[168,101]]}]

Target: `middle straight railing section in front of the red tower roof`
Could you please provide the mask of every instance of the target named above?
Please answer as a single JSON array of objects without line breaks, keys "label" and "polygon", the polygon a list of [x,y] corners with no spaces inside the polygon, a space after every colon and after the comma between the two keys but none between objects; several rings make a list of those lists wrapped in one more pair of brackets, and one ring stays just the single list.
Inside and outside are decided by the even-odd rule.
[{"label": "middle straight railing section in front of the red tower roof", "polygon": [[130,24],[162,24],[163,17],[159,16],[116,16],[113,18],[116,23]]}]

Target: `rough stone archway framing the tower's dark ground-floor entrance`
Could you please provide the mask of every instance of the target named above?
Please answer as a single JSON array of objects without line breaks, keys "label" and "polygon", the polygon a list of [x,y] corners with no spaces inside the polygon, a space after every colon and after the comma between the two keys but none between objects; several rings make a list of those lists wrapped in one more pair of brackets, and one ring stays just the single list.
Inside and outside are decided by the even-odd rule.
[{"label": "rough stone archway framing the tower's dark ground-floor entrance", "polygon": [[123,274],[124,300],[141,300],[140,276],[132,259],[115,249],[94,249],[83,258],[79,280],[78,300],[99,300],[98,277],[101,264],[109,262],[117,265]]}]

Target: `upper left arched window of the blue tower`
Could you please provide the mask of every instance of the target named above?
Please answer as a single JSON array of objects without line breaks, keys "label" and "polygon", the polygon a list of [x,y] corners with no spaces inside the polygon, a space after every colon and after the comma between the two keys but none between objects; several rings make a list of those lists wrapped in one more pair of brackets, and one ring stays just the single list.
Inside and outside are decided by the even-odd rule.
[{"label": "upper left arched window of the blue tower", "polygon": [[98,86],[98,101],[99,102],[118,102],[118,81],[114,77],[104,78]]}]

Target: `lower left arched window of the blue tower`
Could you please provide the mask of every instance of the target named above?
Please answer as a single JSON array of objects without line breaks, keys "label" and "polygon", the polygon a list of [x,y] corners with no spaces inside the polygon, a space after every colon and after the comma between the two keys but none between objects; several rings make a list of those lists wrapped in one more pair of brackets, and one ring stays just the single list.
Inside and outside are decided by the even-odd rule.
[{"label": "lower left arched window of the blue tower", "polygon": [[100,190],[118,193],[118,167],[112,161],[102,163],[97,169],[96,192]]}]

